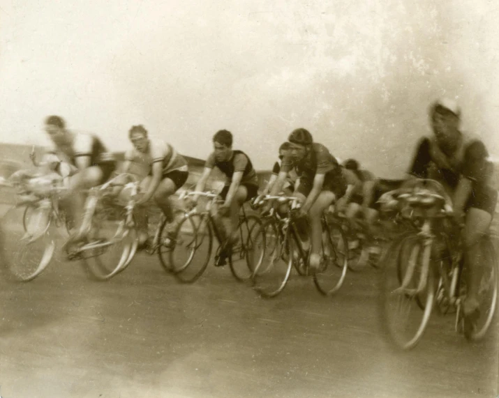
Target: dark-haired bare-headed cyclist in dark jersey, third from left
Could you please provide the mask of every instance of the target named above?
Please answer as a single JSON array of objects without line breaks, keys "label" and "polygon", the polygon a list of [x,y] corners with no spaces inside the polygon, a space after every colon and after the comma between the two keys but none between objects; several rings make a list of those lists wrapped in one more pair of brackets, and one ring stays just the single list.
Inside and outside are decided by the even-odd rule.
[{"label": "dark-haired bare-headed cyclist in dark jersey, third from left", "polygon": [[[213,137],[214,152],[204,164],[202,176],[195,187],[196,191],[204,190],[214,167],[225,174],[227,181],[220,193],[224,203],[218,208],[218,215],[221,215],[221,238],[227,247],[236,243],[237,234],[234,232],[239,222],[241,206],[258,194],[258,178],[253,164],[246,153],[232,149],[232,141],[230,131],[216,132]],[[197,200],[198,197],[194,197],[191,206]],[[226,254],[225,250],[222,250],[216,261],[217,266],[225,265]]]}]

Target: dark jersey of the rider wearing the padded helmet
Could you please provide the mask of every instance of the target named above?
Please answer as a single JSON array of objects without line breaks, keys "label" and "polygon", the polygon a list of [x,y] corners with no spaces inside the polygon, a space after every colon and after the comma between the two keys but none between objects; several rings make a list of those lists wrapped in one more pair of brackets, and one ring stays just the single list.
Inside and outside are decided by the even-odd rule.
[{"label": "dark jersey of the rider wearing the padded helmet", "polygon": [[324,145],[317,142],[312,144],[311,151],[302,160],[296,161],[292,158],[292,155],[283,158],[283,163],[281,164],[283,171],[289,173],[294,167],[299,178],[313,180],[315,174],[327,174],[328,178],[337,180],[338,183],[343,183],[343,175],[338,160],[334,158]]}]

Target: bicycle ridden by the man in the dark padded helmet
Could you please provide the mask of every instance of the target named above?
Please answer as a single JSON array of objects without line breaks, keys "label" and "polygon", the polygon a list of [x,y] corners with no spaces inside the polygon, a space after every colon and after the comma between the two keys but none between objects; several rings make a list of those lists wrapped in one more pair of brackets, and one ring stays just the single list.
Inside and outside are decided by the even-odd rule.
[{"label": "bicycle ridden by the man in the dark padded helmet", "polygon": [[[255,268],[252,280],[253,288],[265,298],[272,298],[283,291],[288,283],[291,268],[295,266],[300,275],[308,273],[308,251],[304,249],[297,229],[296,210],[299,203],[295,197],[266,196],[264,201],[288,204],[286,215],[278,215],[273,209],[269,219],[272,227],[267,231],[276,236],[276,243],[266,252],[266,259]],[[333,222],[327,212],[322,217],[322,254],[320,268],[313,274],[313,282],[325,296],[332,296],[345,280],[348,268],[348,245],[343,229]],[[332,286],[330,286],[332,284]]]}]

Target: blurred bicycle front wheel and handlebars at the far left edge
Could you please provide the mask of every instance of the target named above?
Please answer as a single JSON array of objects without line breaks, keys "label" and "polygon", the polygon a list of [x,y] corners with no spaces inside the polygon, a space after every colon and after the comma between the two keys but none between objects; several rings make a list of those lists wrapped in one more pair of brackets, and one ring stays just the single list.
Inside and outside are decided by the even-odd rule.
[{"label": "blurred bicycle front wheel and handlebars at the far left edge", "polygon": [[[15,181],[21,175],[21,181]],[[59,238],[52,227],[66,224],[58,200],[66,187],[60,180],[29,171],[17,172],[3,185],[14,187],[21,200],[1,219],[1,259],[15,280],[29,282],[52,260]]]}]

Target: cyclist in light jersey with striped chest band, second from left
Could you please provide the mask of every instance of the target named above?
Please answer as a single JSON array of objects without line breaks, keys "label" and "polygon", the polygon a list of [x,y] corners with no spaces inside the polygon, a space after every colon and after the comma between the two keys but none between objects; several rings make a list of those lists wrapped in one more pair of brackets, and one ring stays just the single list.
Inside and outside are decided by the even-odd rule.
[{"label": "cyclist in light jersey with striped chest band, second from left", "polygon": [[[149,174],[140,183],[140,190],[144,194],[137,205],[154,199],[167,222],[174,222],[169,198],[187,181],[186,160],[170,144],[148,137],[143,125],[133,125],[128,131],[128,137],[133,148],[125,153],[124,172],[130,170],[132,163],[147,164],[149,167]],[[139,245],[143,247],[148,239],[147,209],[144,207],[137,209],[137,227]],[[173,229],[174,227],[170,228],[170,234]]]}]

